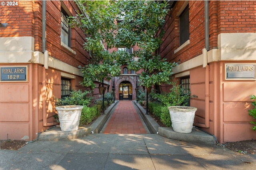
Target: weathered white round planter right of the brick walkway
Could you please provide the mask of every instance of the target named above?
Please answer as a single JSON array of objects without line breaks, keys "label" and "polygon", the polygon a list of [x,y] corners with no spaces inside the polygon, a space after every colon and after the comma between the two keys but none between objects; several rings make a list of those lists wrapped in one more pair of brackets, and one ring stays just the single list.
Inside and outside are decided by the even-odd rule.
[{"label": "weathered white round planter right of the brick walkway", "polygon": [[197,108],[188,106],[168,107],[172,129],[178,133],[191,133]]}]

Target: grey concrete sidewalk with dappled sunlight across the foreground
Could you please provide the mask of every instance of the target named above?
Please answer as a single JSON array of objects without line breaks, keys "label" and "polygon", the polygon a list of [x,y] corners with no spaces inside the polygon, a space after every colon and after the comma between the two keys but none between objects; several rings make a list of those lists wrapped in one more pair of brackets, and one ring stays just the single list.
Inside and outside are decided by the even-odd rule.
[{"label": "grey concrete sidewalk with dappled sunlight across the foreground", "polygon": [[0,170],[230,170],[256,169],[256,155],[198,145],[156,134],[91,134],[35,141],[0,150]]}]

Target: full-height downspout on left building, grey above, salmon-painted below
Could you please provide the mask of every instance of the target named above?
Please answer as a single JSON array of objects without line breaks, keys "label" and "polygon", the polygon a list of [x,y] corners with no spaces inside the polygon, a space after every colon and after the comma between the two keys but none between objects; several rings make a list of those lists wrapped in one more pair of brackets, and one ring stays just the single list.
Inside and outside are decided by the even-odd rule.
[{"label": "full-height downspout on left building, grey above, salmon-painted below", "polygon": [[56,122],[47,123],[46,110],[46,69],[48,69],[48,51],[46,50],[46,0],[42,1],[42,53],[44,53],[44,66],[42,67],[42,112],[43,126],[57,125]]}]

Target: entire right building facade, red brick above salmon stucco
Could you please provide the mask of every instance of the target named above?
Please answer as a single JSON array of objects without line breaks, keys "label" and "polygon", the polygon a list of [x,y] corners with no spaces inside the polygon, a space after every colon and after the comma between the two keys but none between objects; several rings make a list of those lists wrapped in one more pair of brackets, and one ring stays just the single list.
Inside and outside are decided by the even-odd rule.
[{"label": "entire right building facade, red brick above salmon stucco", "polygon": [[248,115],[256,94],[256,2],[176,1],[171,8],[160,53],[179,63],[175,79],[198,96],[190,99],[198,107],[194,125],[220,143],[256,139]]}]

